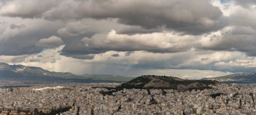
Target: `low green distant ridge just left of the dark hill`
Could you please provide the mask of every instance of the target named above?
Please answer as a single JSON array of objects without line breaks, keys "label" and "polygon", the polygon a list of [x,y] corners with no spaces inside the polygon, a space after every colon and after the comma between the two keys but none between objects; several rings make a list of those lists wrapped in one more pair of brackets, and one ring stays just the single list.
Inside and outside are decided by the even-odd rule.
[{"label": "low green distant ridge just left of the dark hill", "polygon": [[113,75],[99,75],[99,74],[83,74],[81,75],[86,79],[93,79],[93,80],[111,80],[111,81],[119,81],[119,82],[127,82],[134,77],[125,77],[125,76],[113,76]]}]

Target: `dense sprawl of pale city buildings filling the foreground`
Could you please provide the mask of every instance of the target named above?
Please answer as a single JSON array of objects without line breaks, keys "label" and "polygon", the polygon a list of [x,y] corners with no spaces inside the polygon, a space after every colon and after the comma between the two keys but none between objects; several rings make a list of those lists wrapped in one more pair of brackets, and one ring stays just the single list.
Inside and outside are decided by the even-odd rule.
[{"label": "dense sprawl of pale city buildings filling the foreground", "polygon": [[[2,82],[1,86],[8,82]],[[19,83],[17,83],[19,84]],[[219,84],[211,89],[123,89],[119,83],[51,83],[1,88],[0,114],[255,114],[256,85]],[[102,88],[100,88],[102,87]],[[108,87],[108,88],[106,88]]]}]

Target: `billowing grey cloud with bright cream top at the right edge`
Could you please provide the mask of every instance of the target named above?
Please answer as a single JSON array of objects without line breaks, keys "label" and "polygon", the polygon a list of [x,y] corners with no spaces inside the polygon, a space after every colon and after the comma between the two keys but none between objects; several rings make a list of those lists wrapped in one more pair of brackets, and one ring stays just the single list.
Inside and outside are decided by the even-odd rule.
[{"label": "billowing grey cloud with bright cream top at the right edge", "polygon": [[256,31],[250,27],[227,27],[202,36],[201,49],[216,51],[241,51],[256,56]]}]

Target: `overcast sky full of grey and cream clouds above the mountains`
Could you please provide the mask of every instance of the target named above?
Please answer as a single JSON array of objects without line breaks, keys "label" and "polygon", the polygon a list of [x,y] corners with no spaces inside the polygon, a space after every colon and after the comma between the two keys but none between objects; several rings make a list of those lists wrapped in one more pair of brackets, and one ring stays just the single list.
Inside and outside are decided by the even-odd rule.
[{"label": "overcast sky full of grey and cream clouds above the mountains", "polygon": [[0,62],[200,79],[256,72],[254,0],[1,0]]}]

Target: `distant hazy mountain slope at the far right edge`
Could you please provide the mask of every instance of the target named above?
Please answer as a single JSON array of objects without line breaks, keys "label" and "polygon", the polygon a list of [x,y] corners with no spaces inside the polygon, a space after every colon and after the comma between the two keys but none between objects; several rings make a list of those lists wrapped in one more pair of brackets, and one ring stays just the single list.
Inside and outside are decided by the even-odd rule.
[{"label": "distant hazy mountain slope at the far right edge", "polygon": [[256,73],[240,73],[215,78],[203,78],[204,80],[216,80],[224,83],[256,83]]}]

